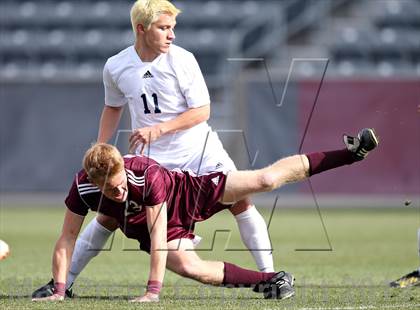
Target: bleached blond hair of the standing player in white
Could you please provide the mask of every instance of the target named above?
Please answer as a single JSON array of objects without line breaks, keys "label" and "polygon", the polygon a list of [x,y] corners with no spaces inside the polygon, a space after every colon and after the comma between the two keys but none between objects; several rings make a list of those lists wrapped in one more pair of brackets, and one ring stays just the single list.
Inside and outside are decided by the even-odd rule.
[{"label": "bleached blond hair of the standing player in white", "polygon": [[158,20],[162,14],[177,16],[181,10],[168,0],[137,0],[130,11],[131,26],[137,36],[137,25],[142,24],[149,29],[150,25]]}]

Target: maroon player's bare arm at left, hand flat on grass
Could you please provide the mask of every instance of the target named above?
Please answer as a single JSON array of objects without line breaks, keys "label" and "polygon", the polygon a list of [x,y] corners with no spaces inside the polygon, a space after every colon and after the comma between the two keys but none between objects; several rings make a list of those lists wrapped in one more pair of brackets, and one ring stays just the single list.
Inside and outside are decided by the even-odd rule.
[{"label": "maroon player's bare arm at left, hand flat on grass", "polygon": [[71,263],[74,244],[82,227],[84,217],[66,210],[60,238],[57,240],[53,253],[52,273],[54,278],[54,294],[32,301],[59,301],[64,299],[67,273]]}]

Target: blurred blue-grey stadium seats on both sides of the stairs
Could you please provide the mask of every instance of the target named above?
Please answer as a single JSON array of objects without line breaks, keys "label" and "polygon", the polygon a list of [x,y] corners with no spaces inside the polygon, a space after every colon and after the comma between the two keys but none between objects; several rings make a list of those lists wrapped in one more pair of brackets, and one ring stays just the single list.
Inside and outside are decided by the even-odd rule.
[{"label": "blurred blue-grey stadium seats on both sides of the stairs", "polygon": [[[349,0],[174,2],[183,11],[175,44],[196,55],[210,84],[223,81],[227,58],[280,57],[279,47],[302,31],[316,29],[320,19],[343,3],[358,5],[366,23],[358,25],[350,18],[334,27],[332,36],[325,34],[333,63],[344,68],[349,63],[372,67],[384,62],[397,67],[420,63],[418,0],[379,1],[381,5]],[[100,80],[106,59],[133,42],[131,4],[128,0],[1,1],[0,66],[5,70],[0,80],[30,80],[37,70],[52,67],[55,70],[47,76],[54,80],[71,79],[72,74],[79,79],[80,72]],[[80,67],[93,73],[87,75]]]}]

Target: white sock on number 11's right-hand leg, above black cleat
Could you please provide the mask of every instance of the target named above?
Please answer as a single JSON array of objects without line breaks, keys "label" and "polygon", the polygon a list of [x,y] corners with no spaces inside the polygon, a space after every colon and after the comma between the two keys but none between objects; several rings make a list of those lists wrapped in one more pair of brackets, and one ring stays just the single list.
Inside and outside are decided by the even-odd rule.
[{"label": "white sock on number 11's right-hand leg, above black cleat", "polygon": [[257,208],[252,208],[235,215],[242,242],[251,251],[257,267],[263,272],[274,272],[271,242],[267,225]]}]

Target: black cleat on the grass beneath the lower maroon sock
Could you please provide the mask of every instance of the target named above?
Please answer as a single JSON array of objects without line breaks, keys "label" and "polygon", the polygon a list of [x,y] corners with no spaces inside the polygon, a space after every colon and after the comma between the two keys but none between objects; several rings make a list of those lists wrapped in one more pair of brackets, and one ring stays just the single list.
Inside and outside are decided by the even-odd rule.
[{"label": "black cleat on the grass beneath the lower maroon sock", "polygon": [[286,299],[295,295],[294,282],[295,278],[292,274],[280,271],[270,280],[258,283],[253,291],[264,293],[265,299]]}]

